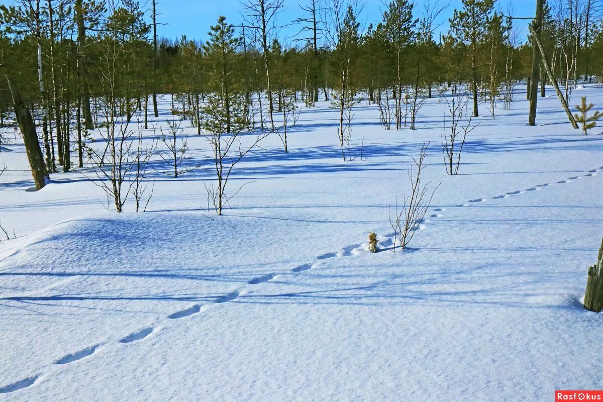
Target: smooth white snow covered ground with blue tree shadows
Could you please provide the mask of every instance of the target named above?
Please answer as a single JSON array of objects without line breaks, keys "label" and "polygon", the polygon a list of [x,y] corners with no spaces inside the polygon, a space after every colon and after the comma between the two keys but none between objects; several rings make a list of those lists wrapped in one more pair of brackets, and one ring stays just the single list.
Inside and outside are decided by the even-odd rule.
[{"label": "smooth white snow covered ground with blue tree shadows", "polygon": [[[271,136],[238,166],[232,188],[248,184],[222,217],[206,210],[194,128],[200,168],[154,174],[138,214],[104,210],[88,168],[27,191],[17,139],[0,151],[0,222],[17,234],[0,243],[0,400],[550,401],[603,388],[602,316],[581,306],[603,236],[603,129],[572,130],[548,95],[537,127],[520,89],[496,119],[483,108],[454,177],[437,98],[415,131],[384,130],[363,102],[351,162],[319,102],[288,154]],[[572,104],[582,95],[603,105],[595,86]],[[441,184],[412,248],[392,253],[388,205],[425,142]]]}]

